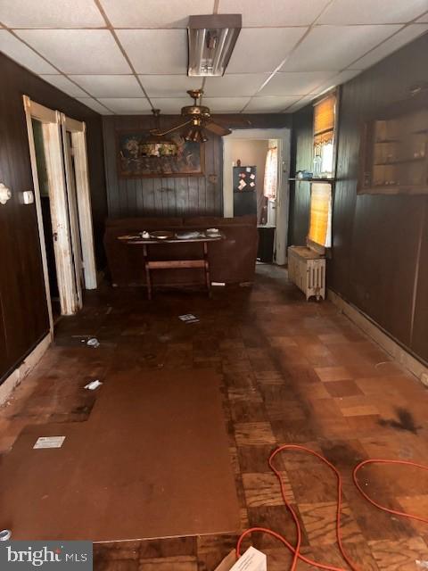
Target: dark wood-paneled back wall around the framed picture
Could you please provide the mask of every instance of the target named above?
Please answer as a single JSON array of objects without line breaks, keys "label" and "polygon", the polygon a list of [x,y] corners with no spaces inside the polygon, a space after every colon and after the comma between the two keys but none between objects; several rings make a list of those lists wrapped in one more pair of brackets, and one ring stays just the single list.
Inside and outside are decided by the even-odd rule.
[{"label": "dark wood-paneled back wall around the framed picture", "polygon": [[[234,115],[222,115],[223,120],[234,120]],[[290,116],[285,114],[239,116],[248,120],[248,128],[288,127]],[[161,117],[161,128],[177,125],[180,116]],[[223,213],[223,145],[222,138],[209,133],[205,144],[205,175],[202,177],[119,178],[117,170],[116,131],[153,127],[152,116],[103,117],[105,175],[109,216],[193,216]],[[210,175],[217,182],[210,182]]]}]

